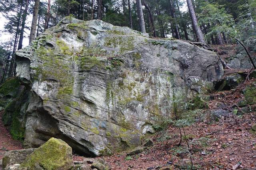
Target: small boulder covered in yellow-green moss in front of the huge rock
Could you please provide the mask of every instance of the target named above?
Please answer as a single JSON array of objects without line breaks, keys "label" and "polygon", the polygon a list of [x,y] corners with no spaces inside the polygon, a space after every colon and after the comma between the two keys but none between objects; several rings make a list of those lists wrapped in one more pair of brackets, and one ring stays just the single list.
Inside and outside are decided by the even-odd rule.
[{"label": "small boulder covered in yellow-green moss in front of the huge rock", "polygon": [[73,165],[72,148],[61,139],[50,138],[30,154],[20,168],[28,170],[68,170]]}]

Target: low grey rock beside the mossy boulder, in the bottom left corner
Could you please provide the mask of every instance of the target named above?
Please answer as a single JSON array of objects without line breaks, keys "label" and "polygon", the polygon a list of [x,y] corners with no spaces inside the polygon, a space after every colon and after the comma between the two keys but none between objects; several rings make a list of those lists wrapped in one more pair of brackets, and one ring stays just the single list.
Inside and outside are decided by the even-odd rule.
[{"label": "low grey rock beside the mossy boulder, in the bottom left corner", "polygon": [[2,166],[3,169],[6,166],[21,164],[28,155],[34,152],[36,148],[22,149],[22,150],[10,150],[4,153]]}]

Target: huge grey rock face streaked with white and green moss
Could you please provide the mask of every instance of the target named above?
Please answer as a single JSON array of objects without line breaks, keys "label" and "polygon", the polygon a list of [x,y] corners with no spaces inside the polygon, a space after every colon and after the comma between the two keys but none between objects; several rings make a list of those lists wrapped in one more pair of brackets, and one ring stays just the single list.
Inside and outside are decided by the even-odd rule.
[{"label": "huge grey rock face streaked with white and green moss", "polygon": [[138,146],[173,98],[207,93],[223,74],[211,51],[71,17],[16,54],[29,94],[25,147],[57,137],[87,156]]}]

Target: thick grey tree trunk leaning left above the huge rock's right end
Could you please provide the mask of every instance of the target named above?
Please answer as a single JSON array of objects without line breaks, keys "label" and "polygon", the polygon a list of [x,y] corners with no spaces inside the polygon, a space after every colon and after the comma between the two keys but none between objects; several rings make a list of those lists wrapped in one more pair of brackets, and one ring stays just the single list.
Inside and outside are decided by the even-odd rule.
[{"label": "thick grey tree trunk leaning left above the huge rock's right end", "polygon": [[195,13],[195,10],[194,10],[191,0],[187,0],[187,4],[188,4],[188,10],[189,10],[190,18],[192,21],[192,25],[193,25],[194,31],[196,33],[196,38],[198,39],[198,42],[205,43],[204,35],[202,33],[202,30],[198,26],[198,20],[196,18],[196,13]]}]

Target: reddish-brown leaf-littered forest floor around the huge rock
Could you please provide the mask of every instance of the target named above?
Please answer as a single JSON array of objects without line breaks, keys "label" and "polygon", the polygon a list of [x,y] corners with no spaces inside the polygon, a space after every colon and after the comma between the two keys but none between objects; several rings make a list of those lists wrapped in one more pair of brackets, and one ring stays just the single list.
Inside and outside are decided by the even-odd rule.
[{"label": "reddish-brown leaf-littered forest floor around the huge rock", "polygon": [[[249,70],[239,71],[248,73]],[[238,70],[227,70],[226,74],[233,72],[238,72]],[[189,169],[191,156],[194,169],[230,170],[235,165],[239,165],[237,169],[255,170],[256,136],[252,136],[249,130],[256,123],[256,113],[250,112],[242,117],[234,114],[222,117],[217,122],[209,122],[207,119],[211,109],[225,107],[232,113],[235,103],[243,98],[242,90],[246,85],[255,83],[255,81],[256,79],[246,79],[236,89],[211,94],[214,99],[208,103],[209,108],[202,111],[206,115],[206,119],[184,127],[189,149],[184,135],[181,145],[176,146],[180,140],[180,131],[170,125],[154,136],[148,136],[148,139],[154,141],[154,146],[140,154],[127,156],[123,152],[105,157],[106,161],[113,170],[158,169],[161,166]],[[0,112],[0,117],[2,117],[2,113]],[[0,149],[2,149],[0,150],[0,159],[5,150],[22,149],[22,143],[12,139],[1,119],[0,139]],[[83,160],[83,158],[78,155],[73,156],[73,160]]]}]

